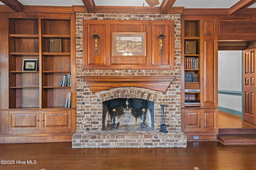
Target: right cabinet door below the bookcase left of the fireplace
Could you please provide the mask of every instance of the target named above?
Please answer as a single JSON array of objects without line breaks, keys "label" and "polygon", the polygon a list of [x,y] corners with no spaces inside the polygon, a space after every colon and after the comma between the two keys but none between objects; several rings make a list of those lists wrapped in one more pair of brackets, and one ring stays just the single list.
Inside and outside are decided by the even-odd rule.
[{"label": "right cabinet door below the bookcase left of the fireplace", "polygon": [[42,111],[42,130],[70,129],[71,111]]}]

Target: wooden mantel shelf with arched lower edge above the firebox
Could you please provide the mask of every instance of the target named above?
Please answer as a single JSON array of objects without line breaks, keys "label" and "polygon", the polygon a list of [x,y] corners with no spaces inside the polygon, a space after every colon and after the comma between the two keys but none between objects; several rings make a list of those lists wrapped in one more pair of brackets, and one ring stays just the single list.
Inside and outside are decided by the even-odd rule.
[{"label": "wooden mantel shelf with arched lower edge above the firebox", "polygon": [[81,76],[91,92],[117,87],[141,87],[166,92],[176,76]]}]

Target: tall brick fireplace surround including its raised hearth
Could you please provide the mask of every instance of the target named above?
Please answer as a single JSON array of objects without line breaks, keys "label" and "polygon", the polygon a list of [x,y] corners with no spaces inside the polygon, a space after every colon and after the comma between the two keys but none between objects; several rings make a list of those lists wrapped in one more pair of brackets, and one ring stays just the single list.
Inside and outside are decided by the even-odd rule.
[{"label": "tall brick fireplace surround including its raised hearth", "polygon": [[[174,20],[175,21],[175,56],[172,70],[84,70],[83,58],[83,20]],[[76,14],[76,105],[77,131],[72,137],[73,148],[142,148],[142,147],[186,147],[186,135],[181,132],[180,113],[180,14]],[[164,84],[164,90],[149,89],[148,83],[134,81],[132,86],[123,82],[104,82],[107,88],[99,88],[98,82],[90,78],[95,77],[142,77],[171,78]],[[100,80],[102,80],[100,78]],[[135,79],[134,79],[135,80]],[[142,78],[143,80],[143,78]],[[150,79],[149,79],[150,80]],[[111,86],[111,84],[117,84]],[[141,85],[142,84],[142,85]],[[144,85],[143,85],[144,84]],[[129,84],[130,85],[130,84]],[[98,87],[97,87],[98,86]],[[163,87],[160,85],[159,87]],[[95,90],[99,88],[98,90]],[[152,131],[127,131],[115,129],[103,131],[103,102],[113,99],[135,98],[154,103],[154,127]],[[161,104],[167,105],[165,124],[168,133],[160,133]],[[121,125],[120,125],[121,126]]]}]

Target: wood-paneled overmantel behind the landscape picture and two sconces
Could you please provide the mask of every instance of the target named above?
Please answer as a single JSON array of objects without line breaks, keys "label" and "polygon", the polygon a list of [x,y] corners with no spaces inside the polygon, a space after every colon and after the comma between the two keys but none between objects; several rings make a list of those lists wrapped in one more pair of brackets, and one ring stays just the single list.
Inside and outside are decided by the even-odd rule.
[{"label": "wood-paneled overmantel behind the landscape picture and two sconces", "polygon": [[[95,33],[100,37],[97,54],[92,38]],[[114,35],[125,33],[144,34],[142,46],[133,47],[141,48],[140,54],[122,55],[118,51],[123,49],[115,49]],[[162,53],[158,38],[161,33],[165,35]],[[174,21],[83,20],[83,55],[84,69],[174,69]]]}]

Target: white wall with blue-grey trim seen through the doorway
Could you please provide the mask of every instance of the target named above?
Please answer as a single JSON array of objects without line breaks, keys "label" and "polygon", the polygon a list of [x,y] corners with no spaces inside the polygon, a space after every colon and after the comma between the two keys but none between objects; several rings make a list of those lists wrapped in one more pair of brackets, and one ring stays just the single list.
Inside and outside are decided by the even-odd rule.
[{"label": "white wall with blue-grey trim seen through the doorway", "polygon": [[242,116],[242,53],[218,51],[219,110]]}]

